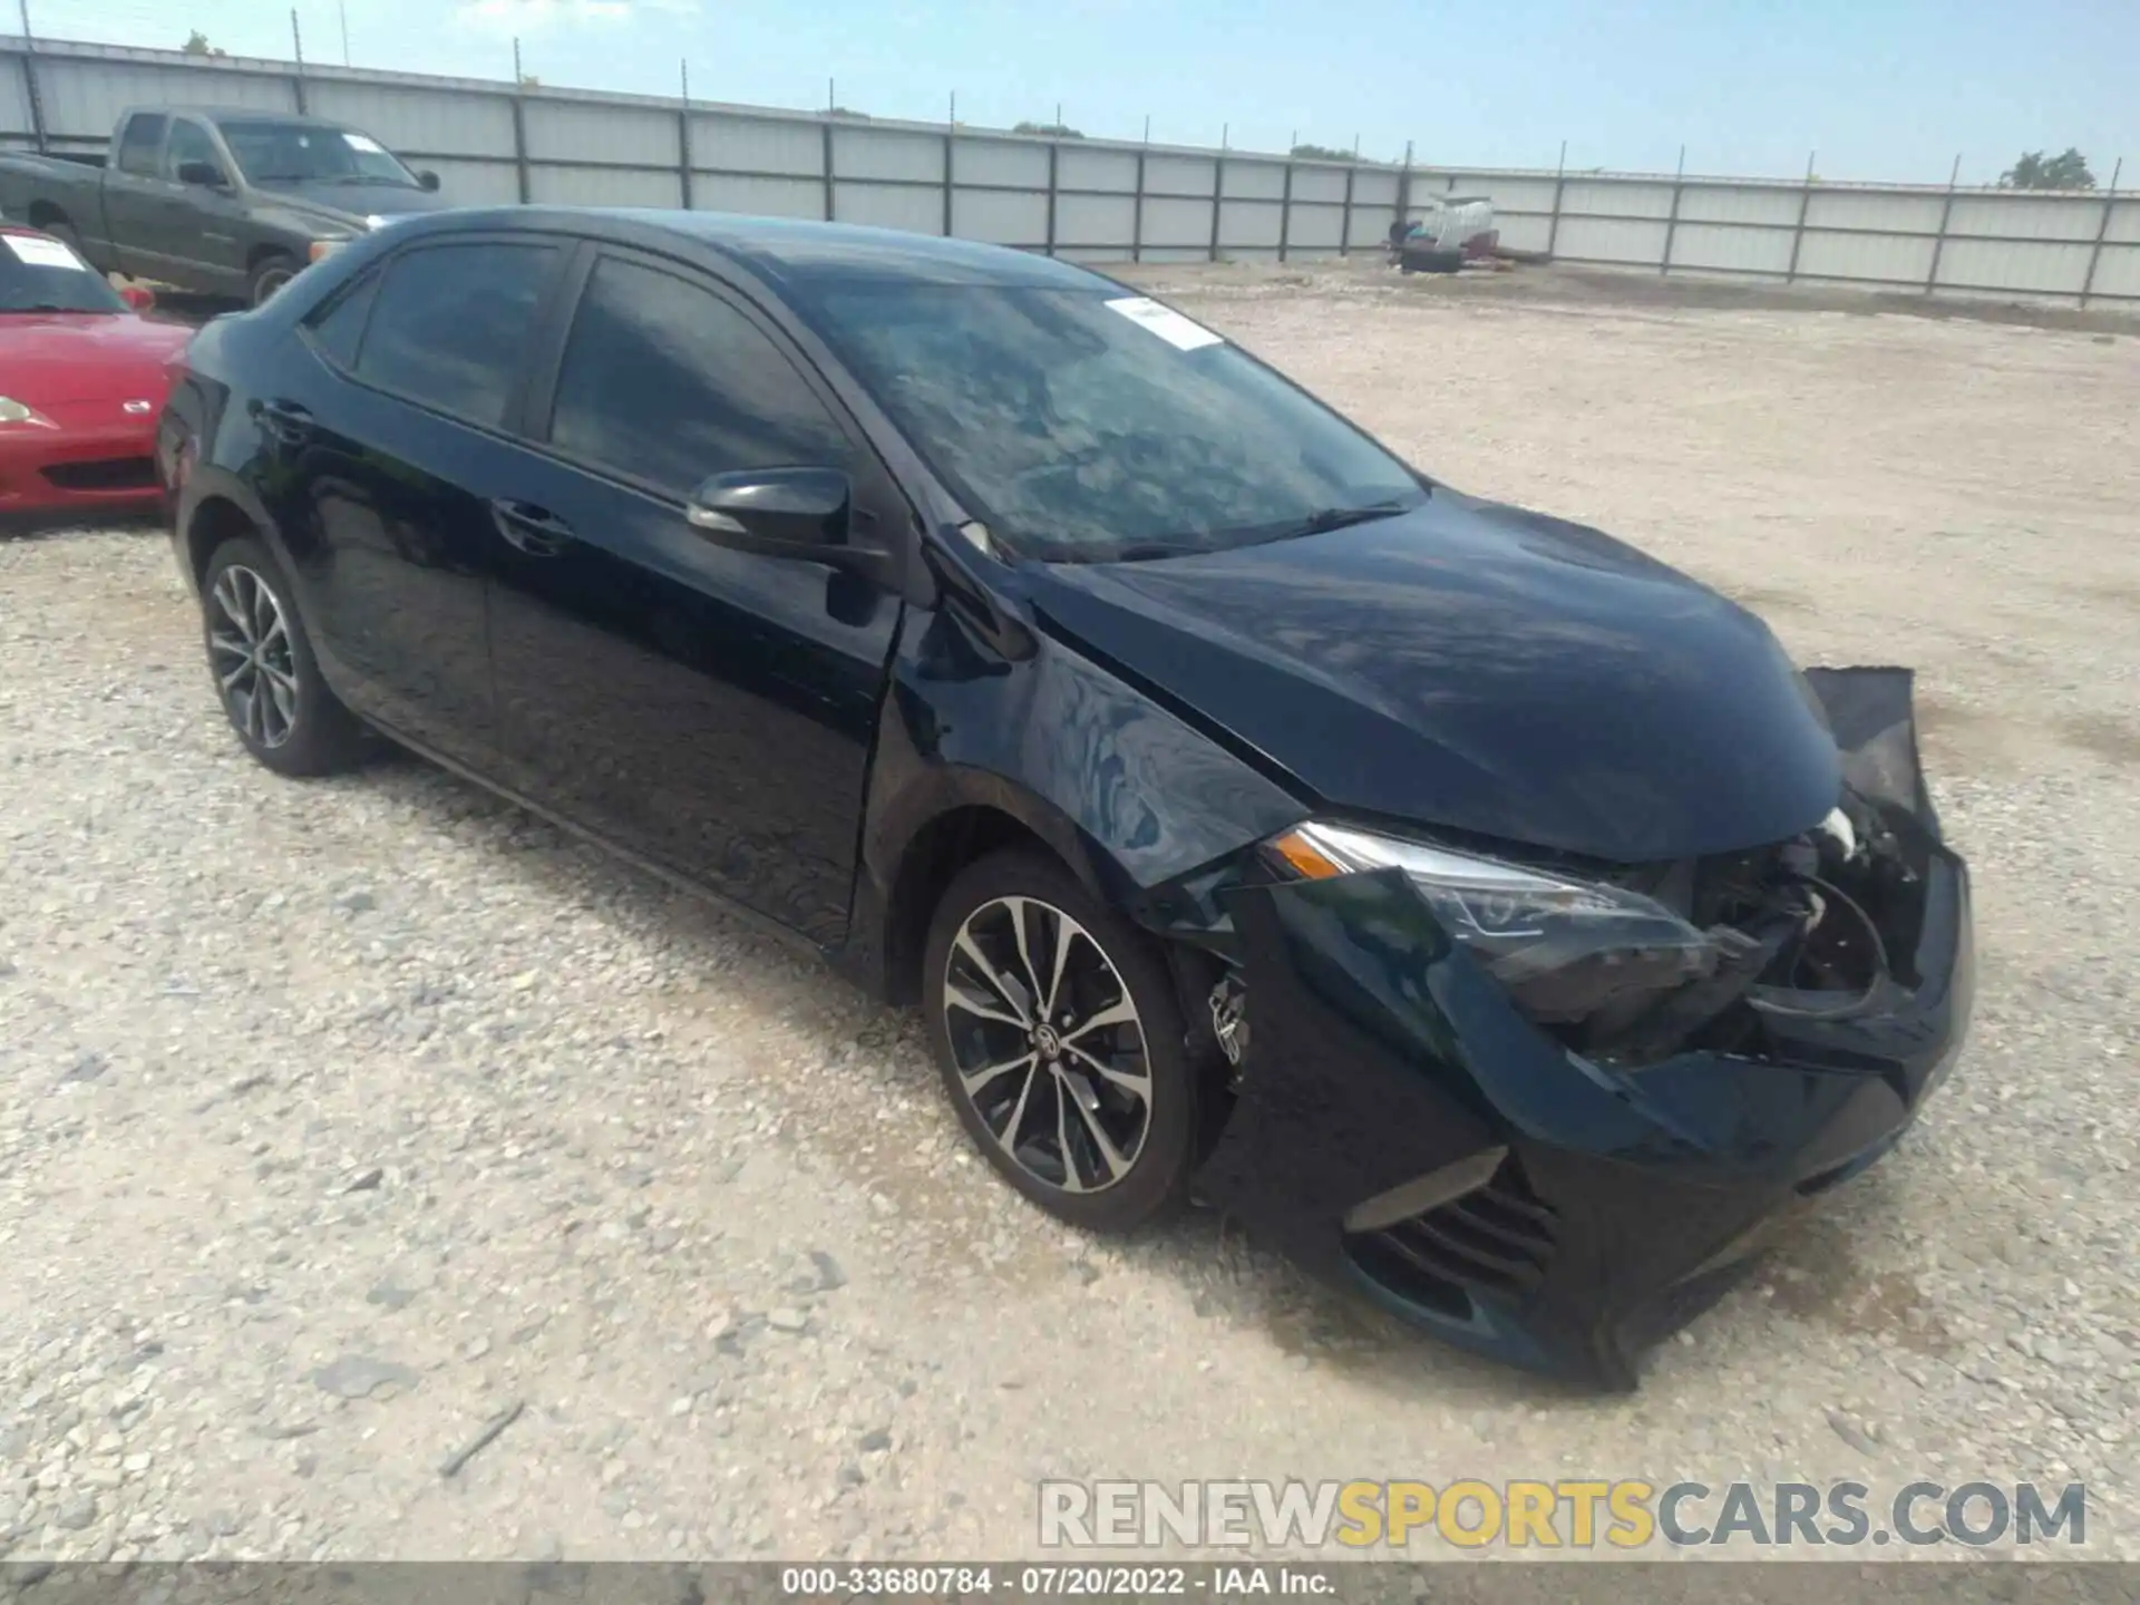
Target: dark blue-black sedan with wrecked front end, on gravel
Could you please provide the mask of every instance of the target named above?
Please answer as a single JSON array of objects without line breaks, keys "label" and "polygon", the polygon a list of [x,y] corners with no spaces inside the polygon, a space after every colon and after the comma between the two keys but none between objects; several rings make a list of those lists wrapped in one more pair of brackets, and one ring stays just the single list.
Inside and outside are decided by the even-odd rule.
[{"label": "dark blue-black sedan with wrecked front end, on gravel", "polygon": [[1079,268],[398,223],[199,334],[160,464],[261,764],[381,732],[920,1004],[1079,1226],[1201,1192],[1629,1387],[1960,1044],[1907,672]]}]

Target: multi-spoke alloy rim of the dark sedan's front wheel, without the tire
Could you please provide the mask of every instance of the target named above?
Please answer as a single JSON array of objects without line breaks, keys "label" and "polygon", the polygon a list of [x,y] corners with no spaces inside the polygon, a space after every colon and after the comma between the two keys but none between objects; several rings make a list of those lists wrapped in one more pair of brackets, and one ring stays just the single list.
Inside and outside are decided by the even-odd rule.
[{"label": "multi-spoke alloy rim of the dark sedan's front wheel, without the tire", "polygon": [[1145,1025],[1083,924],[1034,897],[967,914],[944,961],[944,1025],[967,1102],[1021,1171],[1061,1192],[1130,1175],[1151,1130]]}]

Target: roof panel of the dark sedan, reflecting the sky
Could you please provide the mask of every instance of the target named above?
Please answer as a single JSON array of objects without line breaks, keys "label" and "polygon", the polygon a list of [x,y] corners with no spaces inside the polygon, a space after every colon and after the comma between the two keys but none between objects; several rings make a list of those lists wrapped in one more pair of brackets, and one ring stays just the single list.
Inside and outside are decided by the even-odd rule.
[{"label": "roof panel of the dark sedan, reflecting the sky", "polygon": [[681,212],[651,208],[511,205],[484,212],[439,212],[422,233],[460,229],[556,229],[610,238],[618,244],[657,244],[670,235],[704,246],[773,285],[912,282],[999,285],[1029,289],[1113,289],[1113,280],[1066,261],[976,240],[873,229],[858,223],[766,218],[743,212]]}]

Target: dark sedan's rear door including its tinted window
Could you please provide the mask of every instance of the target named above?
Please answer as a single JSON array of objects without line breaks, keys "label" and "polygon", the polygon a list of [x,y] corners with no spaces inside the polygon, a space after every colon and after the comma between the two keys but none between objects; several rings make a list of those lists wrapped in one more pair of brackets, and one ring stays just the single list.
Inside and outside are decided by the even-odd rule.
[{"label": "dark sedan's rear door including its tinted window", "polygon": [[263,490],[336,687],[486,775],[492,503],[535,473],[514,428],[567,259],[569,242],[526,233],[400,250],[306,319],[285,392],[255,398]]}]

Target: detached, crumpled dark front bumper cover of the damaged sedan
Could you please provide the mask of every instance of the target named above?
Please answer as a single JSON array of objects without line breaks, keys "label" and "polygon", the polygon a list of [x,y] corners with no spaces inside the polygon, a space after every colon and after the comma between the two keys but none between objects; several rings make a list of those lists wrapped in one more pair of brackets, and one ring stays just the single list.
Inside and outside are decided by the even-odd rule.
[{"label": "detached, crumpled dark front bumper cover of the damaged sedan", "polygon": [[1611,1068],[1526,1019],[1397,871],[1243,886],[1248,1051],[1203,1194],[1451,1342],[1633,1387],[1800,1201],[1900,1138],[1969,1017],[1969,873],[1909,674],[1806,678],[1849,788],[1911,852],[1875,1006]]}]

